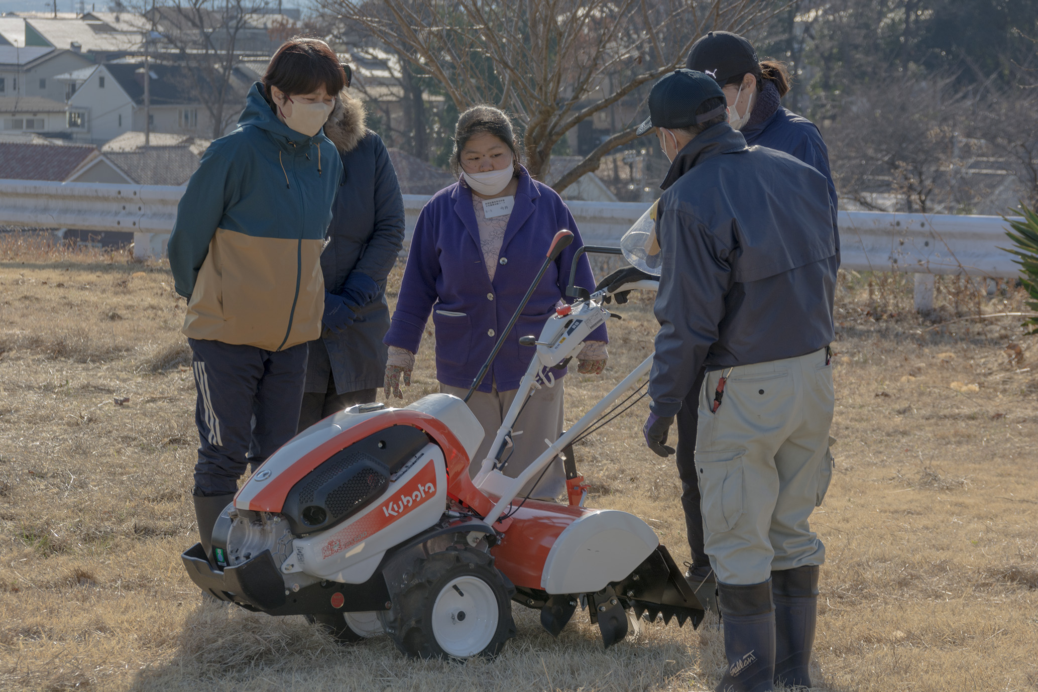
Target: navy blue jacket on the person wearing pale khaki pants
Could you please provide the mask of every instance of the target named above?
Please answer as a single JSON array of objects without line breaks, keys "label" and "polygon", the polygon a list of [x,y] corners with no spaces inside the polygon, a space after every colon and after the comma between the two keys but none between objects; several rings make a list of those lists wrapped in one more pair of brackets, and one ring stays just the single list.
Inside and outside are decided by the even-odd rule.
[{"label": "navy blue jacket on the person wearing pale khaki pants", "polygon": [[728,122],[678,153],[659,198],[663,257],[652,410],[673,416],[708,369],[802,356],[832,340],[839,267],[825,177]]}]

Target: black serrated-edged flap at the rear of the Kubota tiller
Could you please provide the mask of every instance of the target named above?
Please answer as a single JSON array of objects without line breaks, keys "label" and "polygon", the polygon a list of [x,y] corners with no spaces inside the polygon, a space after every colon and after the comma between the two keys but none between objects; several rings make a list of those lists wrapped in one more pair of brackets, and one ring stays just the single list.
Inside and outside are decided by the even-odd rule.
[{"label": "black serrated-edged flap at the rear of the Kubota tiller", "polygon": [[670,624],[671,618],[677,617],[679,627],[691,619],[692,627],[698,628],[706,614],[692,587],[685,581],[670,551],[662,545],[657,546],[630,576],[614,587],[638,617],[648,613],[649,619],[655,620],[657,616],[663,615],[664,624]]}]

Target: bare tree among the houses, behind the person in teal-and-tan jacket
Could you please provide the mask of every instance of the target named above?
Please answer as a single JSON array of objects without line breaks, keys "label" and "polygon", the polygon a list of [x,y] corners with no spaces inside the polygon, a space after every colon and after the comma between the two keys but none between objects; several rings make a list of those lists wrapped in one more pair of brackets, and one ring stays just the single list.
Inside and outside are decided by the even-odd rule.
[{"label": "bare tree among the houses, behind the person in teal-and-tan jacket", "polygon": [[266,0],[173,0],[151,10],[163,39],[185,66],[181,86],[209,114],[212,139],[221,137],[241,113],[245,93],[235,68],[243,48],[261,48],[242,46],[242,39],[252,28],[249,16],[268,5]]}]

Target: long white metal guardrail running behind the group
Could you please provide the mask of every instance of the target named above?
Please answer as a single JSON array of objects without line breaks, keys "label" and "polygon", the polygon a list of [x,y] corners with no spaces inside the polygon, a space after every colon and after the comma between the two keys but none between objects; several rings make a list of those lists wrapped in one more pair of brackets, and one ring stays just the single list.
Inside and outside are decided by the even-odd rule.
[{"label": "long white metal guardrail running behind the group", "polygon": [[[161,257],[176,218],[184,188],[148,185],[50,183],[0,179],[0,225],[129,230],[134,256]],[[404,195],[410,240],[426,195]],[[570,201],[586,243],[619,244],[649,207],[636,202]],[[933,275],[1014,277],[1005,221],[996,216],[840,212],[843,267],[857,271],[910,272],[916,305],[932,306]]]}]

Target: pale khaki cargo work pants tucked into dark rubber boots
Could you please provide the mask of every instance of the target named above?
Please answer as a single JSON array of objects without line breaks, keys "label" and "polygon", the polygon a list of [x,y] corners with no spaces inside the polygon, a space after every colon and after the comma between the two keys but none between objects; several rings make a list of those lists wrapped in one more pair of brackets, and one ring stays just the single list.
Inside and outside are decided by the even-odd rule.
[{"label": "pale khaki cargo work pants tucked into dark rubber boots", "polygon": [[[772,570],[825,560],[808,525],[832,478],[832,368],[825,359],[821,349],[707,373],[695,470],[706,552],[720,582],[757,584]],[[712,413],[722,373],[722,403]]]}]

